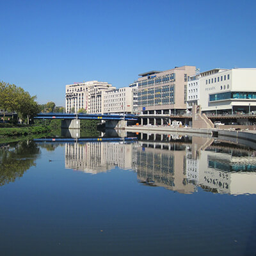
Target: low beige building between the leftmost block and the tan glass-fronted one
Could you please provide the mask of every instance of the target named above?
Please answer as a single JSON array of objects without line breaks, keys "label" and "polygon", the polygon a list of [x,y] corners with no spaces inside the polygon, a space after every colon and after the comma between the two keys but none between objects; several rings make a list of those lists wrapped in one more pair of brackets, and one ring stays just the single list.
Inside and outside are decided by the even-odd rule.
[{"label": "low beige building between the leftmost block and the tan glass-fronted one", "polygon": [[136,112],[134,97],[136,97],[137,93],[136,87],[124,87],[104,92],[102,95],[103,113],[133,114]]}]

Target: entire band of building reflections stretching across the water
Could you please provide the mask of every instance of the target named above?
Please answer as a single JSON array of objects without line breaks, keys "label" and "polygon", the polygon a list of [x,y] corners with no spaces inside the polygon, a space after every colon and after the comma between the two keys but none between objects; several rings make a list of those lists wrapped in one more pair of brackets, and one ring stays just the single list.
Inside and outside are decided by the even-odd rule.
[{"label": "entire band of building reflections stretching across the water", "polygon": [[[66,143],[65,166],[86,173],[118,166],[137,172],[140,182],[179,193],[198,187],[213,193],[256,193],[253,151],[221,147],[212,138],[146,136],[138,143]],[[153,140],[152,140],[153,139]]]}]

